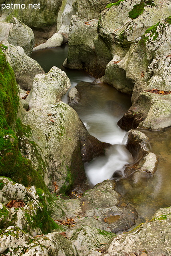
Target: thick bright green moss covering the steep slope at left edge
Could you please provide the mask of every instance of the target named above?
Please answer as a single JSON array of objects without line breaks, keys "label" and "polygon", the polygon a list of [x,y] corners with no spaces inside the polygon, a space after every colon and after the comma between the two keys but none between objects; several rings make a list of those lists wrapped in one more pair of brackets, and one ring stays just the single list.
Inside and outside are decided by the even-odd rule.
[{"label": "thick bright green moss covering the steep slope at left edge", "polygon": [[[21,140],[23,136],[31,135],[31,129],[17,118],[18,107],[18,88],[14,72],[0,50],[0,176],[7,176],[25,186],[36,185],[48,193],[40,175],[44,166],[39,164],[36,172],[30,160],[20,152]],[[35,145],[31,146],[36,150]],[[39,155],[38,159],[41,161]]]}]

